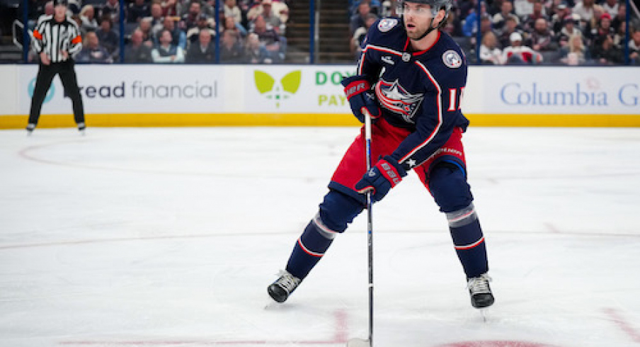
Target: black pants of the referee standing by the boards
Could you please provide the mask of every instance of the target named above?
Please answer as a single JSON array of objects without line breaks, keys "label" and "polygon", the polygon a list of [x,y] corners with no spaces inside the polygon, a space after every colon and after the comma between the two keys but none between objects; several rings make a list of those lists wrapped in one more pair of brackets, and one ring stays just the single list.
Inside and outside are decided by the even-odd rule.
[{"label": "black pants of the referee standing by the boards", "polygon": [[76,79],[74,61],[73,59],[67,59],[67,61],[64,62],[52,62],[49,65],[40,63],[38,77],[35,79],[33,97],[31,98],[31,109],[29,111],[30,124],[38,124],[42,103],[45,101],[47,91],[49,91],[51,82],[57,74],[60,76],[62,86],[64,86],[64,95],[71,98],[76,124],[84,123],[84,106],[82,106],[82,97],[80,96],[78,79]]}]

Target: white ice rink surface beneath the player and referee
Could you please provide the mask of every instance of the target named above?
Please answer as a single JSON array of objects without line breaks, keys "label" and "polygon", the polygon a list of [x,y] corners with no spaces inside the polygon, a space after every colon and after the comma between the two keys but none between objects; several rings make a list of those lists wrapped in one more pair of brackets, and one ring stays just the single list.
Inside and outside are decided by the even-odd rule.
[{"label": "white ice rink surface beneath the player and referee", "polygon": [[[356,128],[0,131],[0,346],[344,346],[366,215],[266,286]],[[411,174],[374,208],[376,347],[640,346],[640,129],[470,128],[496,304]]]}]

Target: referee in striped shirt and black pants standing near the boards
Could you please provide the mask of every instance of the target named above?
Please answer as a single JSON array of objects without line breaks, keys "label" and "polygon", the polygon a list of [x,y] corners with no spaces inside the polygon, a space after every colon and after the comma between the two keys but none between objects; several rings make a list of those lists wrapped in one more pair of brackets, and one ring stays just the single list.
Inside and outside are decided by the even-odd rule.
[{"label": "referee in striped shirt and black pants standing near the boards", "polygon": [[78,88],[74,59],[72,55],[82,48],[82,38],[78,25],[67,18],[67,1],[54,0],[53,15],[42,18],[33,30],[33,48],[40,55],[38,77],[31,98],[29,124],[27,132],[30,135],[38,125],[42,102],[45,101],[47,91],[55,75],[59,74],[65,96],[69,96],[73,103],[74,119],[78,130],[84,135],[84,106]]}]

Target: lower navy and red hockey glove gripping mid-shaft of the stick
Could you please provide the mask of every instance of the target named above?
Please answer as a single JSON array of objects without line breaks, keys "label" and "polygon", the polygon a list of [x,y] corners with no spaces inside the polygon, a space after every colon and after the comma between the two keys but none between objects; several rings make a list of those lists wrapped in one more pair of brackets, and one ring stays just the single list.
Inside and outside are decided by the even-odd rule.
[{"label": "lower navy and red hockey glove gripping mid-shaft of the stick", "polygon": [[387,156],[380,159],[358,183],[355,183],[355,190],[362,194],[373,190],[372,200],[377,202],[389,193],[389,189],[400,183],[404,176],[406,171],[402,166],[395,159]]}]

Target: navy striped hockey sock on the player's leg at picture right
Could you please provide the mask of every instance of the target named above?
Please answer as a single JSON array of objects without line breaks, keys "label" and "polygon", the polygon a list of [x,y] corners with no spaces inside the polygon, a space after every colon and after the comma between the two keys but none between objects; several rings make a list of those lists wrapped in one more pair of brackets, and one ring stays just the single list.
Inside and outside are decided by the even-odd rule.
[{"label": "navy striped hockey sock on the player's leg at picture right", "polygon": [[486,273],[488,271],[486,245],[474,205],[471,204],[446,215],[455,251],[467,278]]}]

